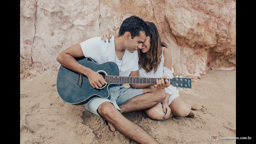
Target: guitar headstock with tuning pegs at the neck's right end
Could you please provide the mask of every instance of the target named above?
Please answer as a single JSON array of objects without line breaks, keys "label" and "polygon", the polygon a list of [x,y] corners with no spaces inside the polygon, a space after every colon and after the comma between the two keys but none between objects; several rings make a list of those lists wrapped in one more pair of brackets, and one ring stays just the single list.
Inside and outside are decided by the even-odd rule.
[{"label": "guitar headstock with tuning pegs at the neck's right end", "polygon": [[191,78],[174,77],[170,79],[170,85],[180,88],[191,88]]}]

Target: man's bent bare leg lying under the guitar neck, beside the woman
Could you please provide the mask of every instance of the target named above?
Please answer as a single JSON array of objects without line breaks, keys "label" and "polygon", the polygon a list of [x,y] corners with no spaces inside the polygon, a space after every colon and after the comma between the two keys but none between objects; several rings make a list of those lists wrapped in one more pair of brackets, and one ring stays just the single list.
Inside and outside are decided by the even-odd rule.
[{"label": "man's bent bare leg lying under the guitar neck, beside the woman", "polygon": [[145,110],[154,107],[165,98],[165,90],[158,89],[154,86],[143,88],[143,95],[131,98],[129,101],[121,104],[119,108],[122,113],[133,112],[137,110]]}]

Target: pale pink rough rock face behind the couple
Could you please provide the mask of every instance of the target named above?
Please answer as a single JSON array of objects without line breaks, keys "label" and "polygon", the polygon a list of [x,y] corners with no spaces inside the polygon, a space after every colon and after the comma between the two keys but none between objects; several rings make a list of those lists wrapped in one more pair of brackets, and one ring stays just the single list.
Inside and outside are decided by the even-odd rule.
[{"label": "pale pink rough rock face behind the couple", "polygon": [[154,22],[175,73],[236,72],[236,1],[20,1],[20,78],[58,70],[64,49],[109,31],[132,15]]}]

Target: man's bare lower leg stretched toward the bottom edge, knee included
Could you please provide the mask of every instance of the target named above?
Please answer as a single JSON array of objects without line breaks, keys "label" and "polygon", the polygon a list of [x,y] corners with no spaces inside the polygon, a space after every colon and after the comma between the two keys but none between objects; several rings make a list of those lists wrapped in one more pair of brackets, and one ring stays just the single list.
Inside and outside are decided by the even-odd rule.
[{"label": "man's bare lower leg stretched toward the bottom edge, knee included", "polygon": [[126,119],[110,102],[102,103],[98,108],[98,113],[125,137],[141,144],[159,144],[146,131]]}]

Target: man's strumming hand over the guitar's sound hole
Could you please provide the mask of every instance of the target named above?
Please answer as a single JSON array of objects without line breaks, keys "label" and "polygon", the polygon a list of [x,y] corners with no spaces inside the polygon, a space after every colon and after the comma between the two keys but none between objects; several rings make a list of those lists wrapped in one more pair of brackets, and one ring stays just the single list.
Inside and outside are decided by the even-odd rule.
[{"label": "man's strumming hand over the guitar's sound hole", "polygon": [[89,70],[89,73],[86,76],[93,88],[98,89],[102,87],[102,85],[107,84],[103,76],[93,70]]}]

